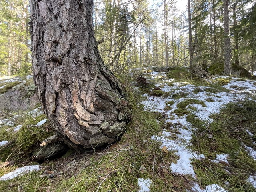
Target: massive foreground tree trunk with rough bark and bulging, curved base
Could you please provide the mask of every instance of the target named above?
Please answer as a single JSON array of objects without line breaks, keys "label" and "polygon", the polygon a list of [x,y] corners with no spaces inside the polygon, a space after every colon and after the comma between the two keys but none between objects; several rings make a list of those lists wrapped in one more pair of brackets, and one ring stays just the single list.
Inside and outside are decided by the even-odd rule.
[{"label": "massive foreground tree trunk with rough bark and bulging, curved base", "polygon": [[78,150],[113,142],[126,125],[128,102],[99,55],[93,0],[31,0],[34,83],[44,113]]}]

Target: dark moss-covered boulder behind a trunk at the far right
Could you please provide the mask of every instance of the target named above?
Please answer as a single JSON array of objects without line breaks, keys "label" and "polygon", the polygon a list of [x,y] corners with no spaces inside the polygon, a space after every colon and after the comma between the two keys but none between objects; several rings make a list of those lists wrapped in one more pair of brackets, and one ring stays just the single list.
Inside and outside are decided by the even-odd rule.
[{"label": "dark moss-covered boulder behind a trunk at the far right", "polygon": [[[232,73],[239,75],[240,77],[246,77],[246,78],[251,78],[251,74],[250,72],[248,72],[248,70],[246,70],[245,68],[242,68],[238,65],[236,65],[235,63],[232,62]],[[224,72],[224,62],[216,62],[214,64],[212,64],[208,70],[208,72],[210,72],[211,74],[218,74],[218,75],[223,75]]]}]

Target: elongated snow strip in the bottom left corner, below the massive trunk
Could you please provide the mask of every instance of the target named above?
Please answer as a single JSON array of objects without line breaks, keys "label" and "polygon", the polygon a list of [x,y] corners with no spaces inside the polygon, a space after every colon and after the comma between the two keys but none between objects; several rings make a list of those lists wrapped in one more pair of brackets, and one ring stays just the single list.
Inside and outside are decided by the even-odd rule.
[{"label": "elongated snow strip in the bottom left corner, below the massive trunk", "polygon": [[40,170],[39,165],[30,165],[30,166],[20,167],[10,173],[3,175],[2,177],[0,177],[0,181],[6,181],[9,179],[13,179],[15,177],[22,176],[30,171],[38,171],[38,170]]}]

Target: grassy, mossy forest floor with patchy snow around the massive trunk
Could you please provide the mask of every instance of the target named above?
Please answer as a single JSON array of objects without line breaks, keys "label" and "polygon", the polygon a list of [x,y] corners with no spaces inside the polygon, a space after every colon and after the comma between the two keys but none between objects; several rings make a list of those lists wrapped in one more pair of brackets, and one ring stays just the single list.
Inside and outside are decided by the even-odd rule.
[{"label": "grassy, mossy forest floor with patchy snow around the massive trunk", "polygon": [[38,164],[33,150],[52,135],[40,107],[2,114],[0,191],[256,192],[256,82],[162,69],[122,78],[127,131],[86,155],[68,150]]}]

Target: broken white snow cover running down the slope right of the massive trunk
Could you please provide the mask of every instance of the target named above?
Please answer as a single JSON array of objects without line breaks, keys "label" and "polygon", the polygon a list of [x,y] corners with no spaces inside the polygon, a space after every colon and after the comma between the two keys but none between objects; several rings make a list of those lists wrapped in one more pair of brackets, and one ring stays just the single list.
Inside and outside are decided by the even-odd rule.
[{"label": "broken white snow cover running down the slope right of the massive trunk", "polygon": [[[144,70],[147,70],[147,68],[144,68]],[[189,106],[190,108],[196,108],[196,111],[193,111],[193,113],[198,116],[198,118],[211,122],[212,119],[210,118],[210,115],[218,113],[220,111],[220,108],[224,104],[228,102],[243,100],[247,96],[247,94],[255,94],[256,85],[253,84],[254,82],[252,82],[251,80],[232,78],[230,80],[230,83],[223,86],[229,91],[210,93],[208,91],[209,89],[212,89],[210,87],[194,86],[187,82],[174,82],[174,79],[167,78],[166,72],[146,72],[146,75],[144,77],[148,81],[157,80],[158,82],[155,84],[155,86],[160,87],[161,90],[164,92],[172,92],[172,94],[178,95],[180,95],[181,93],[187,94],[186,98],[179,99],[174,99],[170,96],[156,97],[144,94],[143,96],[146,99],[141,103],[144,104],[144,110],[164,113],[167,116],[166,122],[171,122],[173,125],[176,125],[178,127],[179,133],[175,135],[176,139],[172,139],[173,133],[166,131],[162,132],[161,135],[153,135],[151,137],[152,140],[156,140],[161,143],[161,149],[167,148],[167,150],[174,151],[175,154],[180,157],[177,160],[176,164],[173,162],[171,163],[170,169],[172,170],[172,172],[179,174],[190,174],[192,177],[196,178],[196,174],[194,173],[191,161],[193,158],[204,158],[204,154],[198,155],[188,148],[188,146],[190,145],[190,139],[192,138],[193,129],[191,124],[187,122],[186,115],[184,115],[183,117],[179,117],[174,113],[174,110],[177,109],[177,104],[188,98],[197,99],[205,102],[205,106],[202,106],[201,104],[191,104]],[[209,100],[209,98],[211,98],[211,100]],[[174,102],[170,110],[165,109],[166,102],[168,101]],[[171,127],[171,129],[172,128],[173,127]],[[248,134],[250,133],[248,132]],[[249,147],[246,147],[246,150],[251,156],[254,157],[254,159],[256,158],[256,151]],[[216,163],[225,162],[228,164],[227,158],[227,154],[218,154],[216,156],[216,159],[212,161]],[[195,186],[198,186],[198,184],[195,183]],[[206,186],[205,190],[199,189],[200,188],[198,186],[198,190],[196,190],[195,187],[193,190],[199,192],[227,192],[217,184]]]}]

